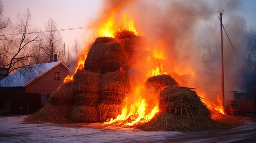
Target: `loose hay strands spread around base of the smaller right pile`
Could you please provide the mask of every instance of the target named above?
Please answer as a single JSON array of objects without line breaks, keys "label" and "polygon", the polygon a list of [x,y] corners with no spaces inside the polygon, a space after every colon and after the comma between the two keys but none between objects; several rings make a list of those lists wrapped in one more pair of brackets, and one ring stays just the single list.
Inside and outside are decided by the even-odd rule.
[{"label": "loose hay strands spread around base of the smaller right pile", "polygon": [[182,117],[180,114],[159,112],[147,123],[137,125],[136,128],[146,131],[170,130],[170,131],[203,131],[203,130],[224,130],[231,126],[213,121],[207,116],[195,116],[195,119]]}]

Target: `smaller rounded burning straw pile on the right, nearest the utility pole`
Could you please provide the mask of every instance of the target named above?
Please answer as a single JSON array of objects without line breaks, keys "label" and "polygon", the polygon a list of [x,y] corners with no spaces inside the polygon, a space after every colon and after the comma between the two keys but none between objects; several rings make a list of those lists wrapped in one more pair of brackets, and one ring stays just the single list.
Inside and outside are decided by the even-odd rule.
[{"label": "smaller rounded burning straw pile on the right, nearest the utility pole", "polygon": [[[169,82],[164,79],[168,79]],[[195,90],[178,86],[177,82],[169,75],[151,77],[146,85],[153,85],[155,90],[161,91],[159,92],[160,112],[151,121],[137,125],[137,128],[148,131],[175,130],[188,132],[220,130],[234,126],[228,123],[227,119],[230,118],[227,117],[223,120],[224,115],[221,115],[221,119],[213,120],[207,106]],[[240,123],[240,119],[236,119],[235,123]]]}]

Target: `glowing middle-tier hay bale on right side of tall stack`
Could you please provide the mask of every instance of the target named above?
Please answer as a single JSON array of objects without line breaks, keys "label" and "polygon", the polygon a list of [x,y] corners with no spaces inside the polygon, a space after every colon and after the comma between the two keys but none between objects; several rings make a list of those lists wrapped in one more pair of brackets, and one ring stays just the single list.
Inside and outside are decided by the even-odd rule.
[{"label": "glowing middle-tier hay bale on right side of tall stack", "polygon": [[101,91],[130,92],[130,79],[120,71],[109,72],[101,77]]}]

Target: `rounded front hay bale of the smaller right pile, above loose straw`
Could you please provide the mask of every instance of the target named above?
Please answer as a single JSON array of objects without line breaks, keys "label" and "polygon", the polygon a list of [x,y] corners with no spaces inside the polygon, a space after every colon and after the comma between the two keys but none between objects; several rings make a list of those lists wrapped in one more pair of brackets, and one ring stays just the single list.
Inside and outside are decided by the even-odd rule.
[{"label": "rounded front hay bale of the smaller right pile, above loose straw", "polygon": [[167,86],[159,95],[159,109],[162,112],[182,114],[189,118],[195,115],[210,116],[204,102],[195,91],[187,87]]}]

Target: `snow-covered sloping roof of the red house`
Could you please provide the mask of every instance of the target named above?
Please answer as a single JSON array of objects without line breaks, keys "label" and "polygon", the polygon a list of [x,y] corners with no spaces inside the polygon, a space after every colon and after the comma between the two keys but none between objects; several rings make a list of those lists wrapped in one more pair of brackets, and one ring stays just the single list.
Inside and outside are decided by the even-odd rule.
[{"label": "snow-covered sloping roof of the red house", "polygon": [[68,70],[70,70],[63,62],[51,62],[24,66],[15,73],[0,80],[0,86],[25,87],[59,64],[63,64]]}]

